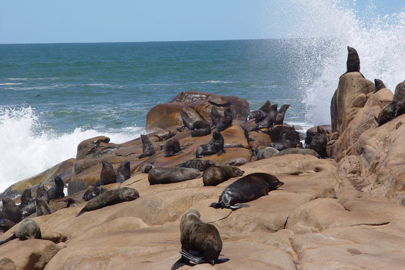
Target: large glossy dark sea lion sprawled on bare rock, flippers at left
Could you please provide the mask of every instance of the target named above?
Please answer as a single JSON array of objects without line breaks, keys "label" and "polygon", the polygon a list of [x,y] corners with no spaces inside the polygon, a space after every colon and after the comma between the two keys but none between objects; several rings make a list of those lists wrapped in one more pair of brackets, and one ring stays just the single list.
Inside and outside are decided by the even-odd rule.
[{"label": "large glossy dark sea lion sprawled on bare rock, flippers at left", "polygon": [[283,184],[284,183],[278,180],[274,175],[268,173],[251,173],[228,185],[224,191],[222,191],[218,203],[212,203],[210,206],[214,208],[229,208],[232,210],[249,207],[250,205],[241,203],[250,202],[264,195],[268,195],[269,191],[277,189]]}]

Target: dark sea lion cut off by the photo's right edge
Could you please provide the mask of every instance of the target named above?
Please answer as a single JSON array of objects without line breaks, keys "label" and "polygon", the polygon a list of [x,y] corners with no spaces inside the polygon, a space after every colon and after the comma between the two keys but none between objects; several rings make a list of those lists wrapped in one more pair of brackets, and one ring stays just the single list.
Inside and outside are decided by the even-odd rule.
[{"label": "dark sea lion cut off by the photo's right edge", "polygon": [[405,113],[405,81],[395,87],[394,96],[390,103],[378,113],[378,127]]}]

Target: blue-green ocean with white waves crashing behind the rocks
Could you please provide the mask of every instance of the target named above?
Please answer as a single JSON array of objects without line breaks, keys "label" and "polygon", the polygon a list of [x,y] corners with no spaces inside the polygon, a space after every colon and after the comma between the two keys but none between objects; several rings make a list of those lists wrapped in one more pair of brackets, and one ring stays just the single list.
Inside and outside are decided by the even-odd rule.
[{"label": "blue-green ocean with white waves crashing behind the rocks", "polygon": [[85,139],[139,137],[149,109],[181,91],[236,95],[251,110],[291,104],[285,121],[304,131],[330,124],[348,45],[367,79],[392,91],[405,79],[405,16],[362,27],[347,14],[358,27],[333,37],[0,45],[0,192],[74,158]]}]

